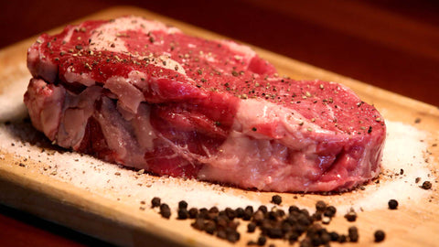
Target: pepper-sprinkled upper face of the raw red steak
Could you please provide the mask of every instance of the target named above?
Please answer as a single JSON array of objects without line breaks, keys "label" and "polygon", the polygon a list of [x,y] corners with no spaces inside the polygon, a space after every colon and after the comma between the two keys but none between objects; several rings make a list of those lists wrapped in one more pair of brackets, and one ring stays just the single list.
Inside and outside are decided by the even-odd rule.
[{"label": "pepper-sprinkled upper face of the raw red steak", "polygon": [[[280,77],[251,48],[190,37],[175,27],[139,17],[87,21],[66,27],[59,35],[43,35],[29,49],[28,63],[34,77],[57,81],[71,91],[97,84],[115,92],[105,84],[115,75],[130,78],[135,71],[137,80],[129,83],[143,93],[130,95],[142,97],[137,102],[197,101],[219,93],[291,109],[292,121],[311,123],[306,125],[310,132],[321,128],[364,135],[385,128],[373,106],[340,84]],[[151,78],[158,88],[143,83]],[[132,110],[135,107],[134,103]]]}]

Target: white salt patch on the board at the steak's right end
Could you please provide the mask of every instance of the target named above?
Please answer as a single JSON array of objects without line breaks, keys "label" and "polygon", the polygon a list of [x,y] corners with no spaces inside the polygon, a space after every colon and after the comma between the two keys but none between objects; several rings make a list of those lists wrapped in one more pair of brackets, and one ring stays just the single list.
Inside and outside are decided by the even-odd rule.
[{"label": "white salt patch on the board at the steak's right end", "polygon": [[381,163],[380,183],[366,186],[358,199],[352,200],[348,205],[337,206],[340,211],[347,211],[350,207],[357,210],[386,208],[389,199],[396,199],[403,205],[405,200],[417,202],[430,194],[415,183],[416,177],[423,181],[430,173],[423,156],[427,144],[421,141],[426,138],[426,134],[400,122],[386,121],[386,126],[388,131]]}]

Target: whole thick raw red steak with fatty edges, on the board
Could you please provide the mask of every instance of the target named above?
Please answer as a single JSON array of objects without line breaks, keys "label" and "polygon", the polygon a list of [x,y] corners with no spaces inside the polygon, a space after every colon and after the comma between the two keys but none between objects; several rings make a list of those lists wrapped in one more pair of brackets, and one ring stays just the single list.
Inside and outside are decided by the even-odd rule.
[{"label": "whole thick raw red steak with fatty edges, on the board", "polygon": [[380,172],[380,113],[294,81],[246,46],[126,16],[44,34],[25,103],[52,142],[157,175],[266,191],[353,188]]}]

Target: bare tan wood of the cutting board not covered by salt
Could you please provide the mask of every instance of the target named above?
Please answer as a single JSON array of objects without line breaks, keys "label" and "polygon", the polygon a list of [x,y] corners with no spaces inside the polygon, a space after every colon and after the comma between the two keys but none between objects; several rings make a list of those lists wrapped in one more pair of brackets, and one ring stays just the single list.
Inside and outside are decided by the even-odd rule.
[{"label": "bare tan wood of the cutting board not covered by salt", "polygon": [[[133,7],[114,7],[99,12],[90,18],[112,18],[124,15],[145,16],[157,19],[182,29],[185,33],[202,38],[222,38],[209,31],[193,27],[176,20],[158,16],[143,9]],[[50,32],[56,32],[59,29]],[[0,95],[11,93],[10,87],[16,81],[27,81],[30,75],[26,69],[26,50],[35,40],[29,38],[0,51]],[[438,139],[439,110],[423,102],[417,102],[390,91],[380,90],[366,83],[355,81],[327,70],[321,70],[305,63],[288,59],[283,56],[254,48],[264,59],[271,61],[280,74],[294,79],[321,79],[325,81],[341,82],[354,91],[366,102],[373,103],[387,120],[413,124],[416,118],[422,122],[415,124],[416,128],[428,134],[425,142],[431,146]],[[24,91],[18,91],[22,95]],[[18,110],[17,110],[18,111]],[[20,116],[17,115],[17,118]],[[1,119],[2,122],[14,119]],[[48,149],[55,147],[48,145]],[[437,159],[439,150],[434,147],[430,150],[430,168],[438,169]],[[136,199],[117,194],[112,190],[79,188],[78,186],[42,173],[41,169],[48,164],[41,164],[37,160],[27,160],[26,166],[18,166],[22,158],[0,150],[0,202],[8,207],[27,211],[37,217],[47,219],[73,230],[84,232],[105,242],[123,246],[232,246],[229,242],[219,240],[209,234],[196,231],[190,227],[188,220],[161,219],[155,210],[139,210]],[[435,161],[434,161],[435,160]],[[123,173],[132,171],[120,168]],[[84,175],[88,176],[88,175]],[[437,174],[432,172],[432,181],[437,182]],[[141,179],[146,179],[145,177]],[[163,181],[161,177],[147,177],[155,182]],[[206,183],[178,180],[181,186],[205,188]],[[431,191],[431,196],[422,201],[411,201],[401,205],[397,211],[388,209],[366,210],[359,213],[359,220],[355,225],[361,234],[359,243],[355,246],[370,246],[373,244],[373,231],[385,229],[387,238],[380,246],[437,246],[439,241],[439,192],[437,183]],[[238,188],[221,188],[221,193],[237,195],[242,199],[255,203],[267,204],[273,193],[245,191]],[[217,193],[217,192],[215,192]],[[284,205],[298,204],[302,207],[313,208],[317,199],[333,201],[348,201],[360,197],[361,191],[344,193],[342,195],[294,195],[282,194]],[[177,197],[178,195],[170,195]],[[297,199],[294,196],[298,196]],[[201,206],[201,205],[198,205]],[[330,225],[337,231],[346,231],[352,225],[338,215]],[[241,232],[245,232],[245,224],[240,225]],[[252,234],[242,234],[241,241],[236,246],[246,246],[247,241],[254,239]],[[276,245],[287,245],[287,242],[275,241]]]}]

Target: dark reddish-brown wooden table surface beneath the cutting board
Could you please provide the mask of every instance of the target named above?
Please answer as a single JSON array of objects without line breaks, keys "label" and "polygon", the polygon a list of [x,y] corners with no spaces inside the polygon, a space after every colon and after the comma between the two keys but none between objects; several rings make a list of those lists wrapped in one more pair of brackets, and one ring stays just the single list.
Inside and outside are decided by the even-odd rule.
[{"label": "dark reddish-brown wooden table surface beneath the cutting board", "polygon": [[[434,0],[1,1],[0,48],[113,5],[144,7],[439,106]],[[0,206],[0,246],[84,245],[107,244]]]}]

